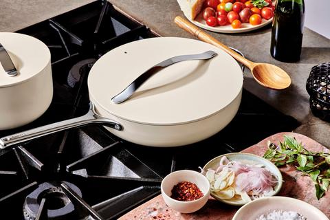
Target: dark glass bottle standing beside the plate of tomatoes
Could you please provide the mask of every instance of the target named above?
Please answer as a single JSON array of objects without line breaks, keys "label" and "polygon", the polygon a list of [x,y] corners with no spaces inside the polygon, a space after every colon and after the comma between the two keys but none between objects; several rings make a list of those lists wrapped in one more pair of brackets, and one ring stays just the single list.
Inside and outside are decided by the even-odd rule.
[{"label": "dark glass bottle standing beside the plate of tomatoes", "polygon": [[305,21],[304,0],[278,0],[272,26],[270,54],[276,60],[300,60]]}]

